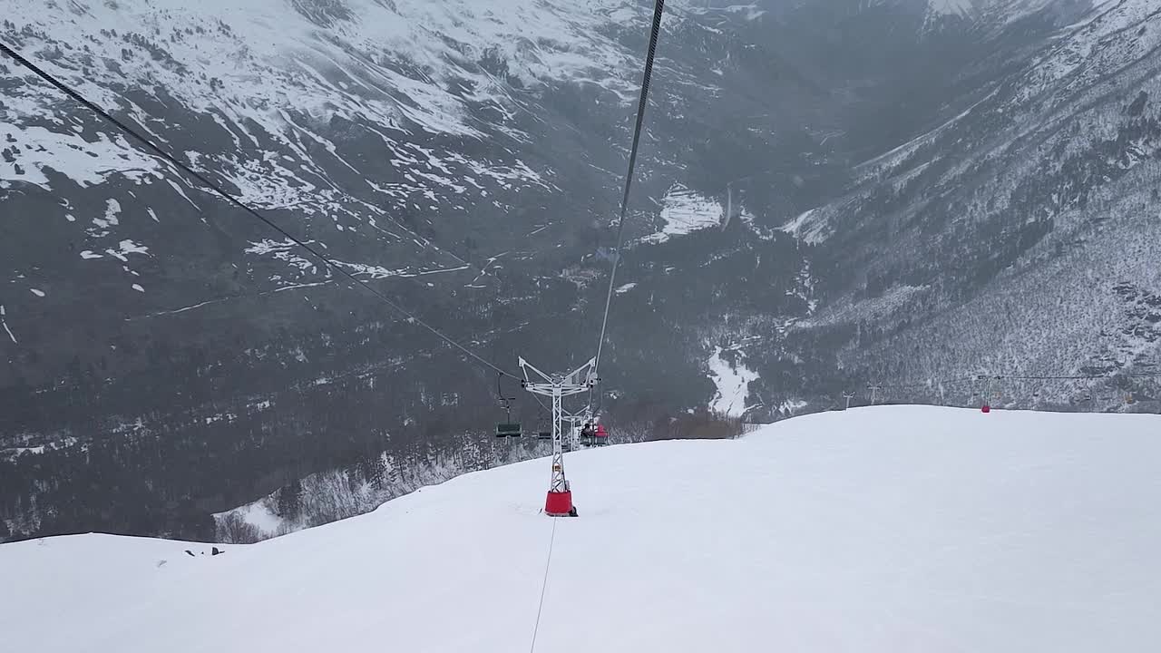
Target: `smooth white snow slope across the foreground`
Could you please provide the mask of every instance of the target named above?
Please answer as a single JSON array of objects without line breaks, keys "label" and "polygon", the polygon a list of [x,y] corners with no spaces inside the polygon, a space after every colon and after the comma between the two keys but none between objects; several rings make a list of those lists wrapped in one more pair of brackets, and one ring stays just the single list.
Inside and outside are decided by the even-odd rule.
[{"label": "smooth white snow slope across the foreground", "polygon": [[218,557],[8,544],[0,632],[41,653],[528,651],[551,540],[542,652],[1148,651],[1159,426],[852,409],[570,454],[576,519],[539,514],[538,460]]}]

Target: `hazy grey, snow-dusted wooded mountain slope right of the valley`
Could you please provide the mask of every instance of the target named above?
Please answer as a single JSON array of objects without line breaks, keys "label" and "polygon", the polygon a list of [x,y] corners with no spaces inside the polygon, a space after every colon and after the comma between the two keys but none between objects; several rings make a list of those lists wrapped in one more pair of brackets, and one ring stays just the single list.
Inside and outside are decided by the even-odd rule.
[{"label": "hazy grey, snow-dusted wooded mountain slope right of the valley", "polygon": [[[1159,38],[1151,2],[1106,3],[858,166],[845,198],[786,225],[851,274],[800,326],[856,328],[839,358],[871,378],[1155,369]],[[1008,393],[1068,402],[1081,386]],[[1116,387],[1101,388],[1112,404],[1128,389]]]}]

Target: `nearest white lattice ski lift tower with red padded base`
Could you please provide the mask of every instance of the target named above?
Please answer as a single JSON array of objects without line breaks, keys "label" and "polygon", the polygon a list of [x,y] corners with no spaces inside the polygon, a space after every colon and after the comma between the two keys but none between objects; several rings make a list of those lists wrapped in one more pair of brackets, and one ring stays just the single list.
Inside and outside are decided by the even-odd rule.
[{"label": "nearest white lattice ski lift tower with red padded base", "polygon": [[545,514],[549,517],[576,517],[572,505],[572,489],[564,478],[564,408],[563,399],[586,393],[597,385],[597,359],[591,358],[577,369],[568,374],[545,374],[524,358],[520,358],[520,369],[524,372],[521,386],[532,394],[553,397],[553,480],[548,486],[548,498],[545,501]]}]

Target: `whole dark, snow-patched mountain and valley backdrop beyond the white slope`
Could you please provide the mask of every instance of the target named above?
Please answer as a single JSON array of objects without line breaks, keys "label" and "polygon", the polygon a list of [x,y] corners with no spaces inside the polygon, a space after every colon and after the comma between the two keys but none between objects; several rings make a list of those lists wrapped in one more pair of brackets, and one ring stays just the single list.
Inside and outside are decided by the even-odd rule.
[{"label": "whole dark, snow-patched mountain and valley backdrop beyond the white slope", "polygon": [[[0,0],[0,38],[481,356],[564,367],[596,346],[650,6]],[[1161,336],[1151,2],[669,12],[614,431],[868,381],[967,402],[972,374],[1154,406],[1123,375]],[[271,493],[361,497],[338,516],[536,452],[485,442],[495,373],[9,59],[0,230],[0,537],[209,538]]]}]

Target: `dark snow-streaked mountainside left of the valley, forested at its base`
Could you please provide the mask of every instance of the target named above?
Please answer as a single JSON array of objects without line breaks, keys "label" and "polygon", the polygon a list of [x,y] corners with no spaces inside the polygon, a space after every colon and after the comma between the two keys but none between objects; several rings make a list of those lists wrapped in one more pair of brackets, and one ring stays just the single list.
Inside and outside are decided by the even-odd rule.
[{"label": "dark snow-streaked mountainside left of the valley, forested at its base", "polygon": [[[6,43],[489,359],[547,365],[570,356],[560,342],[593,343],[576,315],[607,271],[594,252],[612,245],[642,8],[0,6]],[[780,121],[822,103],[720,38],[755,16],[675,8],[642,209],[700,171],[749,164],[721,166],[705,148],[733,129],[723,85],[758,81],[731,110],[794,107]],[[493,417],[491,372],[464,369],[13,62],[0,88],[6,529],[208,537],[211,512],[383,452],[425,459]],[[750,160],[771,132],[749,132]],[[777,160],[794,167],[800,149]],[[699,196],[697,224],[716,224],[712,193]],[[668,224],[642,209],[634,243]],[[663,346],[636,338],[611,354],[656,361]],[[697,402],[713,388],[699,357],[691,347],[643,379]]]}]

